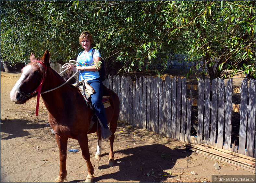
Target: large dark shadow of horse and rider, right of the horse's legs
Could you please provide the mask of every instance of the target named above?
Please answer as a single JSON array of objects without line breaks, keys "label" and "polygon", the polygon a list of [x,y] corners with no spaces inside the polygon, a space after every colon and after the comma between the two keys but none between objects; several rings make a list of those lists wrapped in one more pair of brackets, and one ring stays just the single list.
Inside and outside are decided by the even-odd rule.
[{"label": "large dark shadow of horse and rider, right of the horse's legs", "polygon": [[[116,151],[115,154],[125,154],[125,157],[116,158],[115,166],[119,166],[116,173],[107,173],[108,165],[99,166],[98,169],[105,170],[105,174],[94,177],[94,182],[107,179],[117,181],[139,181],[139,182],[162,182],[171,175],[168,170],[172,169],[179,158],[186,158],[192,151],[186,149],[171,149],[162,144],[144,145],[135,148],[127,148]],[[102,154],[102,156],[108,154]],[[182,165],[186,166],[186,165]],[[73,180],[71,182],[84,180]]]}]

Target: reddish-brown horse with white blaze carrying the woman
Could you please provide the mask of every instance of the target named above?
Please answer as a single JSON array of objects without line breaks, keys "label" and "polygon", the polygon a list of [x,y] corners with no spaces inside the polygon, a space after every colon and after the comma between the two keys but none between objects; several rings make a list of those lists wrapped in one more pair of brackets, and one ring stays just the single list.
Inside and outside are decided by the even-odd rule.
[{"label": "reddish-brown horse with white blaze carrying the woman", "polygon": [[[35,93],[38,89],[35,88],[38,88],[40,85],[42,86],[42,92],[44,92],[60,86],[65,82],[61,76],[50,67],[49,58],[50,53],[48,50],[45,51],[42,58],[36,58],[35,55],[31,53],[31,62],[21,70],[21,77],[10,93],[13,102],[16,104],[25,103],[28,99],[36,95]],[[44,81],[42,78],[44,78]],[[109,138],[109,166],[113,166],[113,143],[120,111],[120,101],[116,93],[106,87],[104,87],[104,93],[110,95],[109,100],[111,107],[106,108],[106,114],[108,123],[110,123],[110,130],[113,133]],[[93,111],[88,108],[79,89],[68,83],[53,91],[42,93],[41,96],[45,107],[49,111],[49,123],[55,132],[55,138],[60,152],[60,172],[55,182],[63,182],[67,176],[66,159],[68,138],[78,140],[82,150],[82,156],[88,167],[86,182],[92,182],[94,169],[90,161],[87,132]],[[96,123],[88,133],[94,132],[97,132]],[[96,158],[99,158],[101,155],[100,134],[99,128]]]}]

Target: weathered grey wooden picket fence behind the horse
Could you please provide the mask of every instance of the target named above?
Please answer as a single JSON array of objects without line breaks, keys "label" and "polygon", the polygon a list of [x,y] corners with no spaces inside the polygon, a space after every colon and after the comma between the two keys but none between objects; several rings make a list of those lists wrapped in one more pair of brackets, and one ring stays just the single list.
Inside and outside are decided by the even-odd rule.
[{"label": "weathered grey wooden picket fence behind the horse", "polygon": [[[133,81],[129,76],[108,75],[104,85],[115,91],[120,98],[120,120],[190,143],[193,139],[190,135],[191,107],[198,106],[198,134],[194,138],[195,143],[255,157],[256,92],[253,79],[250,79],[249,103],[247,79],[242,80],[241,87],[233,87],[232,79],[227,80],[226,86],[221,78],[212,80],[212,84],[210,80],[199,78],[198,85],[189,85],[186,78],[179,77],[166,77],[163,82],[160,77],[142,76]],[[194,89],[198,89],[199,95],[198,99],[193,100],[191,96]],[[187,91],[190,91],[190,97],[187,97]],[[240,104],[232,103],[232,93],[241,94]],[[240,112],[239,148],[233,147],[231,143],[232,111]]]}]

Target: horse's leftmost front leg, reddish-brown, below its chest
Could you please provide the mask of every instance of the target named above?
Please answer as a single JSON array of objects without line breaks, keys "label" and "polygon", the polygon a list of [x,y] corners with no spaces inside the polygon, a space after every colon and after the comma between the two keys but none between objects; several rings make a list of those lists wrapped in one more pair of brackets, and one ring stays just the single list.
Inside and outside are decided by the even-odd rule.
[{"label": "horse's leftmost front leg, reddish-brown, below its chest", "polygon": [[64,182],[67,176],[66,160],[67,160],[67,137],[57,135],[55,133],[55,139],[59,146],[60,151],[60,172],[59,177],[55,179],[55,182]]}]

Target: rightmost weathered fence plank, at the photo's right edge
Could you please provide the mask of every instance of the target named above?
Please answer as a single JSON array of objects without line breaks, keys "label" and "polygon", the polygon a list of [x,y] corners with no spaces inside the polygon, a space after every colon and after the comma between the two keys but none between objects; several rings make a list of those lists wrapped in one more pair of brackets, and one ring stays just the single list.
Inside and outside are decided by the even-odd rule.
[{"label": "rightmost weathered fence plank, at the photo's right edge", "polygon": [[250,78],[246,155],[253,157],[255,142],[255,80]]}]

